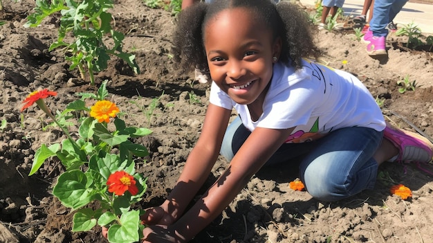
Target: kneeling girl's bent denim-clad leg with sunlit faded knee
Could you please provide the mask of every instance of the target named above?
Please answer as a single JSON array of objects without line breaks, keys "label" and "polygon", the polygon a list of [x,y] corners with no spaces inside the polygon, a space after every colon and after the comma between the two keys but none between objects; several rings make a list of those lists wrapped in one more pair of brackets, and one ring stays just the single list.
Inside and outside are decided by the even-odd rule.
[{"label": "kneeling girl's bent denim-clad leg with sunlit faded knee", "polygon": [[347,127],[313,142],[316,147],[300,165],[300,178],[308,193],[316,199],[336,201],[373,188],[378,170],[373,156],[382,139],[383,132]]}]

